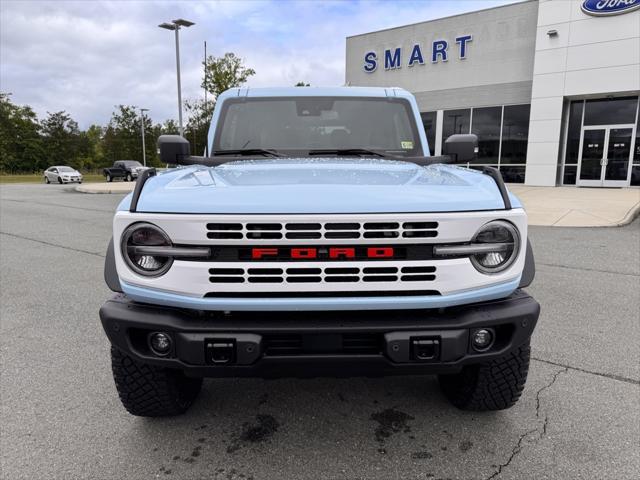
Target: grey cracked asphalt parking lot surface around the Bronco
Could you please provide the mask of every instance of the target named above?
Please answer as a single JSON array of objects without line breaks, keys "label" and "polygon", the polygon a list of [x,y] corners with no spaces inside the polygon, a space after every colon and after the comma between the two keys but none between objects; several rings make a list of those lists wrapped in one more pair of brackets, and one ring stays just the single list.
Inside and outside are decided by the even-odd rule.
[{"label": "grey cracked asphalt parking lot surface around the Bronco", "polygon": [[637,478],[638,220],[531,229],[542,316],[510,410],[458,411],[432,377],[243,379],[142,419],[120,405],[98,320],[122,196],[0,193],[2,478]]}]

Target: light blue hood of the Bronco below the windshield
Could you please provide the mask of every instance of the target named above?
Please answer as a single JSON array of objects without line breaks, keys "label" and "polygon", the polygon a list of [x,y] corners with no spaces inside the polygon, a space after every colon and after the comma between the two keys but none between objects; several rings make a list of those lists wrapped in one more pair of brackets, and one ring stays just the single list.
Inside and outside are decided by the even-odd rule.
[{"label": "light blue hood of the Bronco below the windshield", "polygon": [[[129,207],[131,195],[119,209]],[[512,196],[512,205],[520,203]],[[383,159],[245,160],[176,168],[150,178],[138,201],[149,213],[394,213],[504,208],[493,179],[452,165]]]}]

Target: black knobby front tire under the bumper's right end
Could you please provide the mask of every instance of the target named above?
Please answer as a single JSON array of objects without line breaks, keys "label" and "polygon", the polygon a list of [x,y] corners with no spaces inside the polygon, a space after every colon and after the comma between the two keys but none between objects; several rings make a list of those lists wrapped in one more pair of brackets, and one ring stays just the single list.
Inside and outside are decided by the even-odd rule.
[{"label": "black knobby front tire under the bumper's right end", "polygon": [[504,357],[463,367],[454,375],[440,375],[440,388],[461,410],[504,410],[515,405],[524,390],[530,355],[527,341]]}]

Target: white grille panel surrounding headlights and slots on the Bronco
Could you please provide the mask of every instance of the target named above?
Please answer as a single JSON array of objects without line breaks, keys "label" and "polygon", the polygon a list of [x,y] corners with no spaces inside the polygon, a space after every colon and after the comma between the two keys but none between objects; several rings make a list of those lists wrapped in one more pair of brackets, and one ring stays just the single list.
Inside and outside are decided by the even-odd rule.
[{"label": "white grille panel surrounding headlights and slots on the Bronco", "polygon": [[[119,239],[126,228],[139,221],[151,222],[162,228],[176,245],[202,245],[212,249],[218,245],[255,247],[277,246],[369,246],[445,244],[468,242],[491,220],[514,223],[522,239],[526,239],[526,215],[522,209],[452,213],[397,214],[161,214],[120,211],[114,218],[114,238]],[[357,227],[357,228],[356,228]],[[378,227],[378,228],[375,228]],[[232,233],[234,238],[210,238],[212,233]],[[253,232],[249,238],[247,234]],[[365,238],[365,233],[391,235]],[[263,238],[277,233],[278,239]],[[317,238],[320,235],[320,238]],[[411,235],[426,235],[413,237]],[[289,237],[287,237],[289,236]],[[333,238],[335,236],[336,238]],[[296,238],[297,237],[297,238]],[[313,237],[313,238],[312,238]],[[358,237],[358,238],[356,238]],[[499,285],[519,278],[526,249],[520,249],[518,259],[506,271],[495,275],[480,273],[468,258],[378,261],[183,261],[176,259],[169,271],[157,278],[141,277],[125,264],[120,249],[116,249],[118,276],[130,286],[149,292],[170,293],[185,298],[230,297],[241,295],[291,296],[310,298],[329,294],[368,296],[370,292],[392,295],[424,295],[437,292],[444,296]],[[433,271],[411,270],[432,267]],[[331,269],[351,268],[357,271]],[[379,270],[369,270],[369,269]],[[383,270],[389,269],[389,270]],[[224,271],[224,269],[232,269]],[[254,269],[275,269],[260,273]],[[235,270],[235,271],[234,271]],[[276,273],[277,272],[277,273]],[[414,278],[407,278],[413,275]],[[423,275],[421,278],[420,275]],[[213,277],[213,280],[211,278]],[[219,278],[216,278],[219,277]],[[278,280],[257,280],[257,278]],[[343,278],[341,278],[343,277]],[[344,278],[348,277],[348,278]],[[405,277],[403,279],[403,277]],[[434,277],[434,278],[432,278]],[[224,280],[221,280],[224,278]],[[249,281],[249,279],[254,281]],[[319,281],[318,281],[319,278]],[[363,306],[362,308],[367,308]]]}]

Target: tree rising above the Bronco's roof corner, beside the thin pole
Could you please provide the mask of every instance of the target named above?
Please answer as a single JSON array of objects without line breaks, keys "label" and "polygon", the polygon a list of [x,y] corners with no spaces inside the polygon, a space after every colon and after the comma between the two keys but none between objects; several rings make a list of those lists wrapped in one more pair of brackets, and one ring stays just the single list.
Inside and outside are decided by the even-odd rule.
[{"label": "tree rising above the Bronco's roof corner, beside the thin pole", "polygon": [[247,68],[244,60],[235,53],[227,52],[223,57],[209,55],[204,66],[202,88],[213,95],[214,100],[225,90],[239,87],[249,77],[256,74],[253,68]]}]

